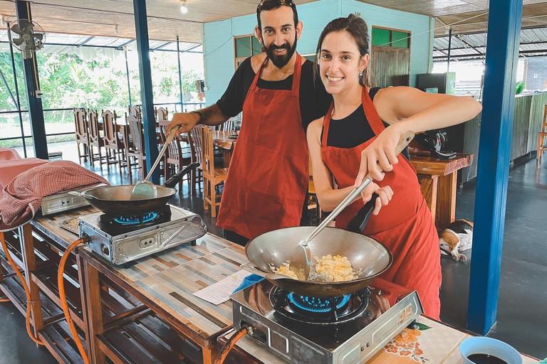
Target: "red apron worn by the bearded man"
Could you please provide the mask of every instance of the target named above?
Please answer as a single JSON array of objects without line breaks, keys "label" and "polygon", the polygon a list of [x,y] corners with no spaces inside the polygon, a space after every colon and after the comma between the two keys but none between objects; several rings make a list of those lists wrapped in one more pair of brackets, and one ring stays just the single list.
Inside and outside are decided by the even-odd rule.
[{"label": "red apron worn by the bearded man", "polygon": [[300,225],[308,188],[308,144],[300,114],[301,56],[291,90],[256,87],[264,60],[243,104],[217,225],[249,239]]}]

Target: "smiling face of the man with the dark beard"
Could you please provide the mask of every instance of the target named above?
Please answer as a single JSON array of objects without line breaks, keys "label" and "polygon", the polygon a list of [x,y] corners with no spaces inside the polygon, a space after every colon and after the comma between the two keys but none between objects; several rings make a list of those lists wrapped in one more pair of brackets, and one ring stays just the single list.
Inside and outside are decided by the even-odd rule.
[{"label": "smiling face of the man with the dark beard", "polygon": [[264,45],[266,55],[277,68],[284,65],[296,50],[296,41],[300,39],[302,23],[294,24],[293,9],[280,6],[278,9],[262,11],[260,14],[262,30],[256,27],[256,36]]}]

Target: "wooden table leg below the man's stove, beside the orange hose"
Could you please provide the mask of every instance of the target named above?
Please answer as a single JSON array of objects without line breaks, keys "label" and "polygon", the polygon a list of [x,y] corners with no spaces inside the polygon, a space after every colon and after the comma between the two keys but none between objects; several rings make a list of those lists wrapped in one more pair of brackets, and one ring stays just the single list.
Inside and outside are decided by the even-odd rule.
[{"label": "wooden table leg below the man's stove, beside the orange hose", "polygon": [[[85,277],[85,310],[88,318],[88,352],[94,364],[104,364],[105,354],[100,350],[98,335],[103,335],[103,313],[100,310],[100,285],[99,272],[92,267],[85,259],[81,259],[78,264],[83,268]],[[80,267],[78,267],[80,268]]]}]

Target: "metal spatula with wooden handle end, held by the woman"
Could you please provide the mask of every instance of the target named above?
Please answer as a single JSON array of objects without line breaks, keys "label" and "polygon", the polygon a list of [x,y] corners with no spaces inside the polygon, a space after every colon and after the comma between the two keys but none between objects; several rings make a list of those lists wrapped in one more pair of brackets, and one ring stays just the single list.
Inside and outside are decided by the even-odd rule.
[{"label": "metal spatula with wooden handle end, held by the woman", "polygon": [[[405,134],[402,134],[401,138],[399,139],[399,142],[397,143],[397,146],[395,147],[395,155],[398,156],[402,149],[405,149],[407,145],[414,139],[414,133],[410,130],[406,132]],[[382,167],[380,164],[377,164],[377,168],[382,171]],[[317,228],[315,228],[310,235],[308,235],[305,239],[303,239],[301,242],[294,247],[293,253],[291,254],[291,264],[290,269],[295,272],[295,274],[298,276],[298,279],[300,280],[308,280],[308,277],[310,275],[310,269],[311,269],[311,252],[310,247],[308,246],[308,243],[316,237],[325,226],[327,226],[331,221],[333,221],[338,214],[340,214],[350,203],[359,196],[361,191],[365,189],[366,186],[369,185],[370,182],[374,180],[373,176],[368,173],[367,176],[363,179],[363,182],[361,183],[361,186],[357,188],[353,188],[353,191],[350,192],[348,197],[344,198],[344,200],[333,210],[332,213],[328,215],[325,220]],[[333,252],[335,254],[336,252]]]}]

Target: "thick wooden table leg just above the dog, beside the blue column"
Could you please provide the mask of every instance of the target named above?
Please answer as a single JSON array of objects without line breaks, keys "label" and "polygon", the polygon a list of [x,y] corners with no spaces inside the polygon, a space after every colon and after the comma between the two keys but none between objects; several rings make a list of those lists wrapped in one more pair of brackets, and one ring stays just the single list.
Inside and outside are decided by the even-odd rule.
[{"label": "thick wooden table leg just above the dog, beside the blue column", "polygon": [[435,217],[435,225],[439,229],[447,228],[456,220],[457,177],[457,171],[447,174],[447,176],[439,176]]}]

